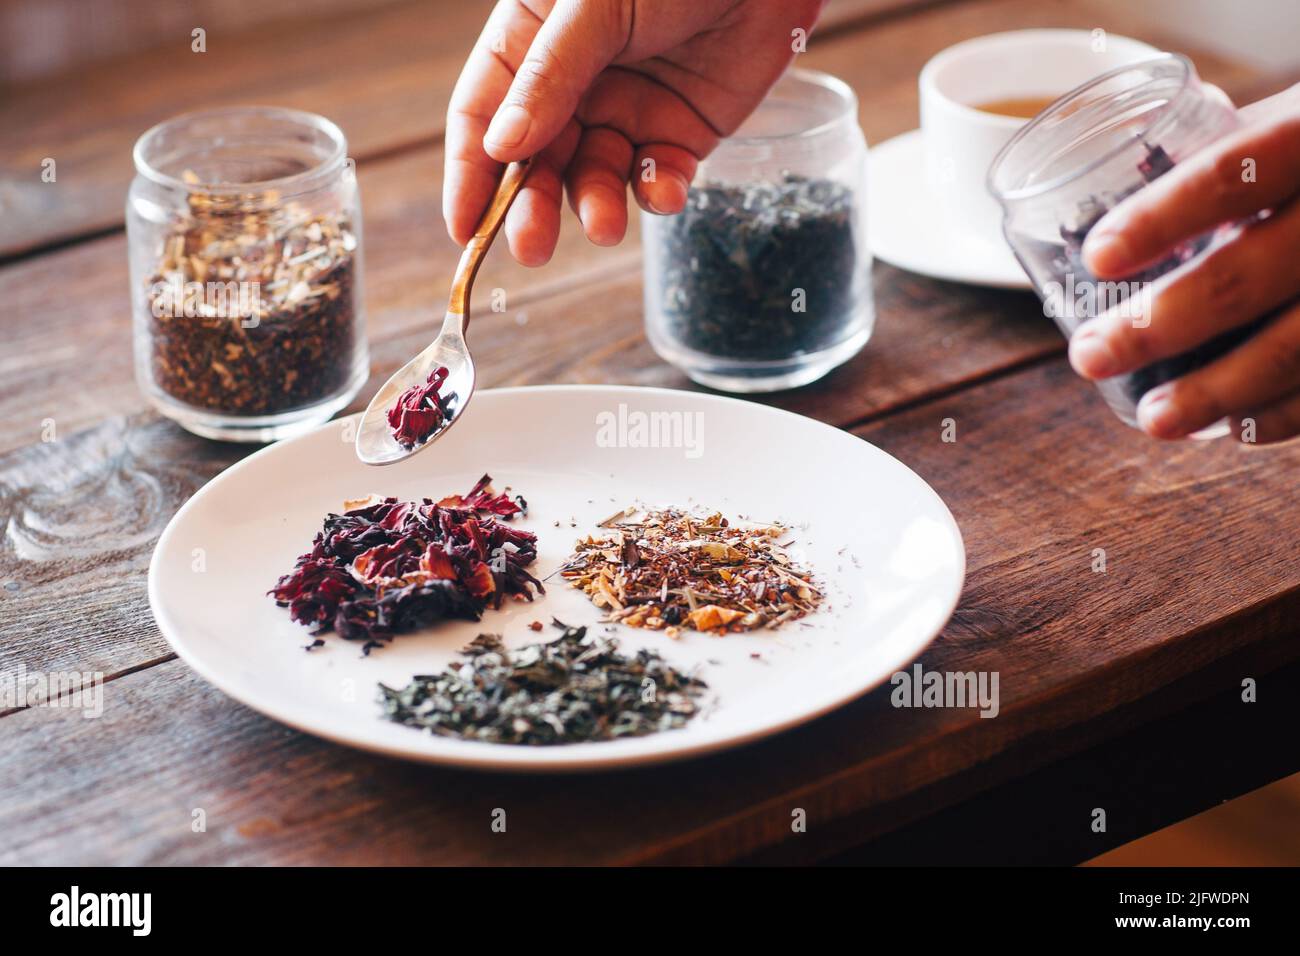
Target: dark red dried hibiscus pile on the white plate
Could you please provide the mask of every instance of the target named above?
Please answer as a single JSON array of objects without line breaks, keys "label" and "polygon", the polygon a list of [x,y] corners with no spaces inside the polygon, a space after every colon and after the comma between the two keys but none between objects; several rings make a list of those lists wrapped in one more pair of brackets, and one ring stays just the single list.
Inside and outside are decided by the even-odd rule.
[{"label": "dark red dried hibiscus pile on the white plate", "polygon": [[294,570],[268,592],[289,615],[317,632],[364,640],[447,618],[478,620],[508,596],[533,600],[541,581],[525,568],[537,536],[506,524],[524,510],[484,475],[465,494],[434,502],[370,497],[329,515]]}]

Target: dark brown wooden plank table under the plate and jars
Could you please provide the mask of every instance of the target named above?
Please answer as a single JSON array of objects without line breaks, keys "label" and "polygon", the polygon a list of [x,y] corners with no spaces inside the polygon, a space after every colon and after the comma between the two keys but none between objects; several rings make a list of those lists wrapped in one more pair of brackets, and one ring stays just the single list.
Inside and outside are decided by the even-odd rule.
[{"label": "dark brown wooden plank table under the plate and jars", "polygon": [[[523,778],[335,747],[191,674],[153,624],[146,568],[179,505],[251,449],[182,432],[135,388],[130,144],[199,105],[339,121],[365,207],[373,389],[428,341],[456,255],[438,211],[442,114],[484,5],[434,7],[211,30],[202,56],[186,27],[169,48],[0,100],[0,127],[20,131],[0,148],[0,672],[107,680],[96,721],[0,711],[0,861],[1078,861],[1300,769],[1300,446],[1149,441],[1070,373],[1032,295],[884,264],[870,346],[770,401],[879,445],[949,503],[968,578],[920,662],[997,671],[996,719],[897,710],[885,688],[723,756]],[[1100,26],[1173,46],[1128,7],[842,0],[801,62],[857,90],[875,143],[915,125],[918,69],[967,36]],[[1190,52],[1240,101],[1286,83]],[[46,156],[57,183],[40,182]],[[481,385],[693,388],[642,337],[636,237],[598,250],[568,221],[546,268],[494,254],[481,282],[510,310],[476,321]],[[956,442],[940,437],[948,418]],[[853,507],[871,489],[835,493]],[[1105,834],[1091,831],[1096,806]],[[508,836],[491,832],[494,808]],[[792,832],[796,808],[807,832]]]}]

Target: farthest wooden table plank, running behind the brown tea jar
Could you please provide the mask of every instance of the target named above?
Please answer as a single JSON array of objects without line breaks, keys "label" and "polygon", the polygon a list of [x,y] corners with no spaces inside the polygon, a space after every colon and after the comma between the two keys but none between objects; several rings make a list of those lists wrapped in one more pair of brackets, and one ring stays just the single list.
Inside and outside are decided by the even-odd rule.
[{"label": "farthest wooden table plank, running behind the brown tea jar", "polygon": [[[835,31],[916,0],[837,0]],[[170,22],[155,49],[83,61],[61,77],[10,86],[0,127],[0,256],[122,225],[131,146],[156,122],[198,107],[266,103],[329,116],[363,160],[441,140],[447,101],[491,0],[407,3],[378,9],[204,18],[207,52],[190,48],[190,20]],[[40,178],[56,161],[57,179]]]}]

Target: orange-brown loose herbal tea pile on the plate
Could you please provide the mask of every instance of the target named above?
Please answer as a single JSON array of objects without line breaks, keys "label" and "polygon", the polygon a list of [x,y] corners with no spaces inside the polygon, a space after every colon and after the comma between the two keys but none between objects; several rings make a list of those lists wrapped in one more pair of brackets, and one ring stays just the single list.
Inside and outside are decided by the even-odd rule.
[{"label": "orange-brown loose herbal tea pile on the plate", "polygon": [[720,514],[697,518],[677,509],[627,509],[603,524],[608,537],[588,536],[560,576],[632,627],[679,628],[716,635],[779,627],[816,610],[822,592],[780,545],[776,524],[737,525]]}]

